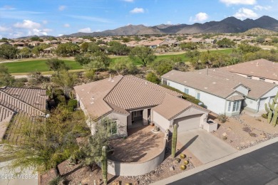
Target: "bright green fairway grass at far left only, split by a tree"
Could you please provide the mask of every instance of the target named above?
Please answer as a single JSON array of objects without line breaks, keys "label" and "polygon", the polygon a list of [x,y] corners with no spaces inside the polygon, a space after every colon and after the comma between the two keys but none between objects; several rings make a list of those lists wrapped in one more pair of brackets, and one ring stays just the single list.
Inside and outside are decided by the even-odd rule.
[{"label": "bright green fairway grass at far left only, split by a tree", "polygon": [[[76,61],[63,60],[66,65],[70,67],[71,70],[82,69],[82,66]],[[29,73],[33,71],[44,72],[49,71],[46,65],[46,60],[31,60],[24,62],[13,62],[4,63],[4,65],[9,69],[9,73]]]}]

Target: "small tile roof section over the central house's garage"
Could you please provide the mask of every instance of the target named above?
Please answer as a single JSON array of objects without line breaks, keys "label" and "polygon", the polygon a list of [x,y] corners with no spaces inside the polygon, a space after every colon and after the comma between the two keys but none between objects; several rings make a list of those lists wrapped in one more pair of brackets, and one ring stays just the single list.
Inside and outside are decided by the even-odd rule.
[{"label": "small tile roof section over the central house's garage", "polygon": [[162,115],[167,120],[173,120],[173,118],[175,118],[177,115],[180,115],[190,107],[195,107],[200,110],[205,110],[205,112],[210,112],[210,110],[173,95],[166,95],[163,102],[157,107],[154,107],[153,111],[158,112],[158,114]]}]

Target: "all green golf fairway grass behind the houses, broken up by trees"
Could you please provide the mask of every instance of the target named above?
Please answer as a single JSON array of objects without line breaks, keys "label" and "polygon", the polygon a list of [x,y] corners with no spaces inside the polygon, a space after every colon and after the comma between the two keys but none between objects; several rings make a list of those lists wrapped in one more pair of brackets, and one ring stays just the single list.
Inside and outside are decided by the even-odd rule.
[{"label": "all green golf fairway grass behind the houses, broken up by trees", "polygon": [[[204,51],[206,52],[206,51]],[[226,53],[230,54],[232,53],[232,49],[223,49],[223,50],[217,50],[217,51],[210,51],[212,53],[218,52],[218,53]],[[126,57],[126,56],[123,56]],[[123,57],[113,57],[111,58],[112,63],[115,62],[116,58],[123,58]],[[175,54],[175,55],[160,55],[157,56],[155,60],[162,60],[162,59],[171,59],[171,58],[181,58],[182,61],[189,61],[189,58],[185,56],[185,53],[182,54]],[[68,59],[62,59],[69,67],[71,70],[81,70],[83,69],[82,65],[74,61],[72,58]],[[140,63],[135,63],[136,65],[140,65]],[[4,63],[4,65],[9,69],[9,73],[13,75],[20,75],[25,73],[30,73],[30,72],[45,72],[45,73],[51,73],[50,70],[48,69],[46,65],[46,59],[41,59],[41,60],[21,60],[19,62],[11,62],[11,63]]]}]

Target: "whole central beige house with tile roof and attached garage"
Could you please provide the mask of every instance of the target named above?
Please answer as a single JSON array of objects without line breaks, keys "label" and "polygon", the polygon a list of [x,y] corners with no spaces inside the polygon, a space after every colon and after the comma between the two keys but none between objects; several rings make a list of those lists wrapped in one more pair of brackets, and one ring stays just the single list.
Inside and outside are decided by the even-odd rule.
[{"label": "whole central beige house with tile roof and attached garage", "polygon": [[[109,117],[115,123],[114,137],[126,137],[128,128],[154,122],[163,131],[178,125],[178,131],[202,127],[209,110],[183,100],[180,93],[133,75],[116,76],[78,85],[76,99],[94,122]],[[93,125],[88,122],[92,134]]]}]

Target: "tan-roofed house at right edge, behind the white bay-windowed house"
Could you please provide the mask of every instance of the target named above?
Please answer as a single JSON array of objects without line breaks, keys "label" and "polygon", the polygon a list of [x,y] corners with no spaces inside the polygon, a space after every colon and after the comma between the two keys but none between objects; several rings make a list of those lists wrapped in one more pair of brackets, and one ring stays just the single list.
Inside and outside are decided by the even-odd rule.
[{"label": "tan-roofed house at right edge, behind the white bay-windowed house", "polygon": [[245,63],[230,65],[221,69],[241,75],[245,78],[278,84],[278,63],[269,60],[252,60]]}]

